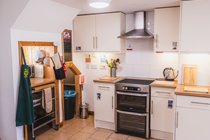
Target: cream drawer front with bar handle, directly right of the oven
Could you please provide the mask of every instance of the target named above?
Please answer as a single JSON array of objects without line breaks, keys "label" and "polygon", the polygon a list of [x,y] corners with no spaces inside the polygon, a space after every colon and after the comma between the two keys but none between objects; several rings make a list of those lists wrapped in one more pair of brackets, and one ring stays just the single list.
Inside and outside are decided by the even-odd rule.
[{"label": "cream drawer front with bar handle, directly right of the oven", "polygon": [[174,98],[174,88],[159,88],[152,87],[151,88],[151,96],[152,97],[166,97],[166,98]]}]

